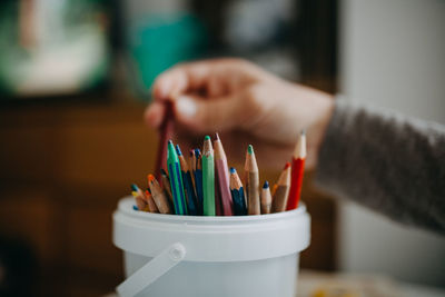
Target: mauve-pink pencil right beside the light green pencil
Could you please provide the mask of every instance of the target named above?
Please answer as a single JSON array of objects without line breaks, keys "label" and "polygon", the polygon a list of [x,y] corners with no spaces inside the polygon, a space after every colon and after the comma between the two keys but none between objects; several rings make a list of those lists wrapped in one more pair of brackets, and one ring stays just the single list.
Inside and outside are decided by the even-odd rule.
[{"label": "mauve-pink pencil right beside the light green pencil", "polygon": [[231,200],[231,194],[230,194],[229,167],[227,165],[226,152],[224,151],[222,142],[219,139],[218,133],[215,133],[214,149],[215,149],[215,179],[216,179],[215,184],[217,185],[216,192],[218,192],[219,202],[221,207],[221,215],[233,216],[234,202]]}]

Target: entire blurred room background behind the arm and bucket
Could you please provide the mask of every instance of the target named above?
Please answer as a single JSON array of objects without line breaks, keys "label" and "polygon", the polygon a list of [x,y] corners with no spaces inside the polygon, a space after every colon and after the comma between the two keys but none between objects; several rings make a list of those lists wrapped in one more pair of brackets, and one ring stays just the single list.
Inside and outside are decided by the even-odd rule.
[{"label": "entire blurred room background behind the arm and bucket", "polygon": [[[0,295],[100,296],[122,280],[111,214],[154,168],[142,112],[170,66],[241,57],[445,123],[444,52],[441,0],[1,1]],[[444,296],[443,237],[326,197],[313,176],[301,288],[366,275],[402,294],[366,296]]]}]

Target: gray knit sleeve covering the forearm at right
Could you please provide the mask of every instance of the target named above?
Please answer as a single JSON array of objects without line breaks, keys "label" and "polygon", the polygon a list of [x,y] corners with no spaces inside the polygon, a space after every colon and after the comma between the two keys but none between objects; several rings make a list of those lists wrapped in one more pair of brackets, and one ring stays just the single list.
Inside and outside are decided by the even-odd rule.
[{"label": "gray knit sleeve covering the forearm at right", "polygon": [[445,127],[337,100],[316,185],[394,220],[445,232]]}]

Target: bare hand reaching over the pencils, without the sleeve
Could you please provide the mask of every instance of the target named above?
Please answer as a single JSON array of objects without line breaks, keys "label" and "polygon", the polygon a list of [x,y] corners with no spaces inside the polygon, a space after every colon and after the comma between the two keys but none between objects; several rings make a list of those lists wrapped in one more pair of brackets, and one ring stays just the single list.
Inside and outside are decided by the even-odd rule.
[{"label": "bare hand reaching over the pencils, without the sleeve", "polygon": [[[306,169],[317,162],[329,122],[330,95],[290,83],[239,59],[179,65],[158,77],[146,121],[158,128],[166,100],[175,107],[175,135],[186,148],[200,147],[205,133],[219,132],[230,160],[243,161],[254,145],[259,166],[281,168],[301,129],[307,129]],[[184,149],[186,149],[184,148]]]}]

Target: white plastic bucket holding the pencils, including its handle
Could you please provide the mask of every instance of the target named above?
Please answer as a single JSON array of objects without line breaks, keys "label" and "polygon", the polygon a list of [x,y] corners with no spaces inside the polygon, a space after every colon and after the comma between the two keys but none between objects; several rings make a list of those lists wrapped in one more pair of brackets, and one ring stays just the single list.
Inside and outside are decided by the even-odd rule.
[{"label": "white plastic bucket holding the pencils, including its handle", "polygon": [[113,242],[123,250],[121,296],[294,297],[306,207],[271,215],[195,217],[135,211],[123,198]]}]

